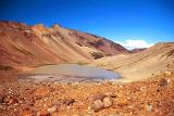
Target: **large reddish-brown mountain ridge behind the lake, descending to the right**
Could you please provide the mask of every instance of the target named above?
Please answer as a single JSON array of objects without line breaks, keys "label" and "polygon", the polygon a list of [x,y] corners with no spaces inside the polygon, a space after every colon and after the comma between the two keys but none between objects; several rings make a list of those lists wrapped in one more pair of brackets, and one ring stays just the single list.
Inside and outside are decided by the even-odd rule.
[{"label": "large reddish-brown mountain ridge behind the lake, descending to the right", "polygon": [[0,64],[28,66],[80,62],[128,50],[103,37],[42,24],[0,22]]}]

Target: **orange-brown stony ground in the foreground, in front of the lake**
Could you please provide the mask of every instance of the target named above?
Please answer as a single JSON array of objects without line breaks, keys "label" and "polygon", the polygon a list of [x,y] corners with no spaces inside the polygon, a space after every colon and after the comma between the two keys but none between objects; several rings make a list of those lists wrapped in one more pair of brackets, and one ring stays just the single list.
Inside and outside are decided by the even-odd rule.
[{"label": "orange-brown stony ground in the foreground, in front of the lake", "polygon": [[130,83],[10,77],[0,80],[1,116],[174,116],[174,74]]}]

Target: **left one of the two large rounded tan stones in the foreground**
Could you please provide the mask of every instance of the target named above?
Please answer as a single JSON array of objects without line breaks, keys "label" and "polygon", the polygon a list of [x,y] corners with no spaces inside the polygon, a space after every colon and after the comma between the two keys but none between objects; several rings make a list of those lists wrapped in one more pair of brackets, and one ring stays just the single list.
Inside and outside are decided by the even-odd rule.
[{"label": "left one of the two large rounded tan stones in the foreground", "polygon": [[104,108],[104,104],[102,103],[101,100],[96,100],[94,102],[94,104],[91,105],[91,109],[94,109],[95,112],[98,112],[100,109]]}]

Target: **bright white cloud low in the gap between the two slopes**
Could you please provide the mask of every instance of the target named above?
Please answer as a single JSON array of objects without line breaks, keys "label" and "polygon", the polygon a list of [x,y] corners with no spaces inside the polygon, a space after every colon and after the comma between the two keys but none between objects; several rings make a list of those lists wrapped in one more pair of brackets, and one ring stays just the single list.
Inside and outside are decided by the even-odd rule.
[{"label": "bright white cloud low in the gap between the two slopes", "polygon": [[122,44],[128,50],[139,49],[139,48],[149,48],[154,44],[154,43],[148,43],[147,41],[141,40],[141,39],[139,40],[138,39],[127,39],[125,41],[115,41],[115,42]]}]

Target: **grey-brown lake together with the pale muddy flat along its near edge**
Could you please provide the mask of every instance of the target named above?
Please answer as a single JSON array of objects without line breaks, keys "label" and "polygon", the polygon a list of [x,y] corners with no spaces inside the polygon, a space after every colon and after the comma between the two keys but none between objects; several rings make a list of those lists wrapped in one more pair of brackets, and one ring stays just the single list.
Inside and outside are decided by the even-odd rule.
[{"label": "grey-brown lake together with the pale muddy flat along its near edge", "polygon": [[103,68],[77,65],[60,64],[36,67],[28,73],[24,81],[58,81],[58,82],[99,82],[103,80],[116,80],[121,75]]}]

